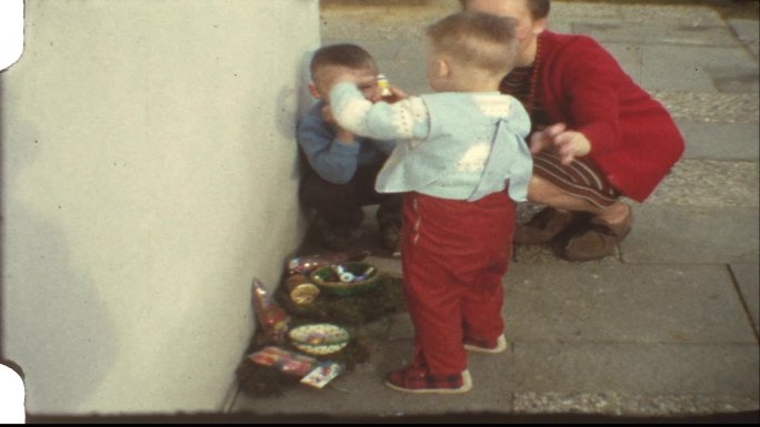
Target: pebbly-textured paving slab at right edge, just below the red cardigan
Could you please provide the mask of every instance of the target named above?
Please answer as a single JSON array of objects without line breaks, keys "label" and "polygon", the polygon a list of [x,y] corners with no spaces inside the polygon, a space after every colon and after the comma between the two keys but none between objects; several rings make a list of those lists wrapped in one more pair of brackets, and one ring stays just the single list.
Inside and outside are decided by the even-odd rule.
[{"label": "pebbly-textured paving slab at right edge, just below the red cardigan", "polygon": [[758,207],[759,199],[758,162],[686,159],[644,205]]}]

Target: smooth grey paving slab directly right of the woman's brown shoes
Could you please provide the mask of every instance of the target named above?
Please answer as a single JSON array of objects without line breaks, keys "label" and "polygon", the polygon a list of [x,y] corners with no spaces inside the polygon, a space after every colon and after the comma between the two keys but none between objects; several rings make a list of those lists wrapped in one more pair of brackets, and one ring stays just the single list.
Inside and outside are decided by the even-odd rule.
[{"label": "smooth grey paving slab directly right of the woman's brown shoes", "polygon": [[727,264],[758,260],[758,210],[722,206],[634,207],[633,230],[621,243],[631,264]]}]

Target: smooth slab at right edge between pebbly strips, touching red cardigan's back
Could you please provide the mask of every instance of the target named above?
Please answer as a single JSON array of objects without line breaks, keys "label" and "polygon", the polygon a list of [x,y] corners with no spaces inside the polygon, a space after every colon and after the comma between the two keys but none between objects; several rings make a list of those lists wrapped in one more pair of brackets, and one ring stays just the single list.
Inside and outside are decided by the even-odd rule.
[{"label": "smooth slab at right edge between pebbly strips, touching red cardigan's back", "polygon": [[683,159],[758,161],[760,131],[757,124],[702,123],[683,119],[677,120],[677,124],[686,140]]}]

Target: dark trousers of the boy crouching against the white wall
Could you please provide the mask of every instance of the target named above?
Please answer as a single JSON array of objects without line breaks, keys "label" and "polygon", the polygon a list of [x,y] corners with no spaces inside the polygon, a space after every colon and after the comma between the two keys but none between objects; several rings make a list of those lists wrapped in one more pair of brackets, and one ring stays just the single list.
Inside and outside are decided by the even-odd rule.
[{"label": "dark trousers of the boy crouching against the white wall", "polygon": [[402,194],[374,191],[374,180],[381,167],[382,163],[361,166],[346,184],[333,184],[308,169],[301,180],[301,203],[331,226],[358,226],[364,218],[362,207],[373,204],[380,205],[377,220],[381,226],[389,222],[400,225]]}]

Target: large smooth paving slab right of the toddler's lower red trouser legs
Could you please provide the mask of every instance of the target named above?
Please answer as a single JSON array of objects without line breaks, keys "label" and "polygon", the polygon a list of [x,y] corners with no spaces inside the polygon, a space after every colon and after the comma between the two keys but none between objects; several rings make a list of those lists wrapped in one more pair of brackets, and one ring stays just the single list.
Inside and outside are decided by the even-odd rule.
[{"label": "large smooth paving slab right of the toddler's lower red trouser legs", "polygon": [[723,265],[513,265],[509,342],[757,343]]}]

